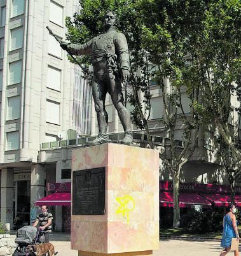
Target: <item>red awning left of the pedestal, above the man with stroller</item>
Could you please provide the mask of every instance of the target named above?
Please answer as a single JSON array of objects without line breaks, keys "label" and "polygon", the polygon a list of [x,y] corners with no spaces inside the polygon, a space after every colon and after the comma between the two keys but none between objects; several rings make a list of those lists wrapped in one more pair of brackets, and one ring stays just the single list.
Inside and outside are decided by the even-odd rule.
[{"label": "red awning left of the pedestal, above the man with stroller", "polygon": [[54,193],[39,199],[35,204],[71,206],[71,193]]}]

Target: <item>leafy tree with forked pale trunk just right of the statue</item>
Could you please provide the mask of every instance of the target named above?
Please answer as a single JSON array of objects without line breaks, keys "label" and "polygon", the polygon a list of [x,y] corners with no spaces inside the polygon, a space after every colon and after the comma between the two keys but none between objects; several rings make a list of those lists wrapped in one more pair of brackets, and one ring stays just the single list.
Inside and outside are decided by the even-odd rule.
[{"label": "leafy tree with forked pale trunk just right of the statue", "polygon": [[[152,79],[156,80],[162,90],[163,107],[165,117],[165,134],[170,139],[170,146],[160,157],[165,162],[173,179],[174,191],[174,220],[173,227],[180,223],[179,211],[179,176],[181,167],[189,160],[195,150],[198,139],[198,112],[202,110],[200,105],[200,80],[193,75],[192,57],[189,54],[188,43],[190,34],[200,31],[202,20],[203,1],[151,1],[141,0],[137,3],[137,17],[141,20],[142,49],[148,52],[148,60],[157,69],[151,72]],[[205,5],[204,5],[205,6]],[[201,17],[200,17],[201,16]],[[195,20],[197,22],[195,22]],[[170,92],[167,92],[170,83]],[[151,107],[149,103],[149,84],[140,83],[134,85],[132,104],[135,106],[134,117],[136,124],[141,124],[148,134],[148,117],[145,112]],[[182,107],[181,90],[186,88],[190,100],[188,115]],[[144,94],[144,110],[138,98],[138,90],[147,92]],[[181,114],[178,114],[181,110]],[[174,132],[177,129],[178,118],[182,118],[184,129],[182,139],[184,148],[180,151],[175,145]],[[141,120],[141,122],[140,122]],[[138,123],[139,122],[139,123]],[[139,127],[141,127],[139,125]],[[153,143],[149,143],[153,147]],[[170,152],[170,153],[168,153]]]}]

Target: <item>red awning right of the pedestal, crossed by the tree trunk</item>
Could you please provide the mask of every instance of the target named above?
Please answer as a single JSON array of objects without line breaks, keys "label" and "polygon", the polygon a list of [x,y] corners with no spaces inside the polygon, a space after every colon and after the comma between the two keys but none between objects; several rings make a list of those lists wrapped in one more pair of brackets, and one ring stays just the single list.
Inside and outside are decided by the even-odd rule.
[{"label": "red awning right of the pedestal, crossed by the tree trunk", "polygon": [[[191,207],[192,205],[202,205],[205,208],[209,208],[212,204],[202,196],[195,193],[180,193],[179,194],[179,206],[180,208]],[[173,207],[173,193],[172,192],[160,192],[160,205]]]}]

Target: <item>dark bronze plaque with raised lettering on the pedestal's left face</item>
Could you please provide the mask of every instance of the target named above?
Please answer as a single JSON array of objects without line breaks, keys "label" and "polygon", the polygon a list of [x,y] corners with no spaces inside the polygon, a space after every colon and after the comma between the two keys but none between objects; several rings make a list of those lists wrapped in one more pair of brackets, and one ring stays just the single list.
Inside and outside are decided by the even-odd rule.
[{"label": "dark bronze plaque with raised lettering on the pedestal's left face", "polygon": [[104,215],[105,174],[104,167],[73,172],[73,215]]}]

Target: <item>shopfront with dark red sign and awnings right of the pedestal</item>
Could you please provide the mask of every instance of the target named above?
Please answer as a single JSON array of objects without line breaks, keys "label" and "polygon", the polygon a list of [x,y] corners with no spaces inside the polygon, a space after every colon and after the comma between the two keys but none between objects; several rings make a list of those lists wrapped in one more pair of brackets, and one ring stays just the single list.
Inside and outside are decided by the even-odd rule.
[{"label": "shopfront with dark red sign and awnings right of the pedestal", "polygon": [[[228,206],[231,201],[231,189],[227,185],[180,183],[179,206],[181,224],[185,223],[193,211],[205,211],[209,208]],[[241,206],[241,187],[235,187],[235,203]],[[172,226],[173,185],[171,181],[160,182],[160,225]]]}]

